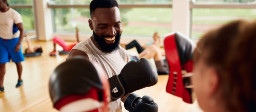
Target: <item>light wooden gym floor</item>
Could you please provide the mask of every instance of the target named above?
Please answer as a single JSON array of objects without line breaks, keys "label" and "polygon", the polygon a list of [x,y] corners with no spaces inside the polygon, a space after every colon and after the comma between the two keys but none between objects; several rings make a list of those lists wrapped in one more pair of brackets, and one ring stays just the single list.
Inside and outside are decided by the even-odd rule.
[{"label": "light wooden gym floor", "polygon": [[[33,45],[41,45],[42,56],[25,58],[22,62],[22,87],[15,88],[18,75],[15,63],[6,63],[4,77],[4,92],[0,93],[0,112],[57,112],[53,108],[49,97],[48,82],[51,72],[67,55],[50,57],[48,53],[53,50],[52,41],[36,41]],[[23,51],[26,44],[23,43]],[[57,47],[59,49],[59,47]],[[128,50],[134,54],[136,49]],[[139,96],[153,97],[158,104],[158,112],[200,112],[197,104],[186,104],[181,98],[165,91],[168,75],[160,75],[156,85],[136,91]],[[127,112],[123,106],[123,112]]]}]

